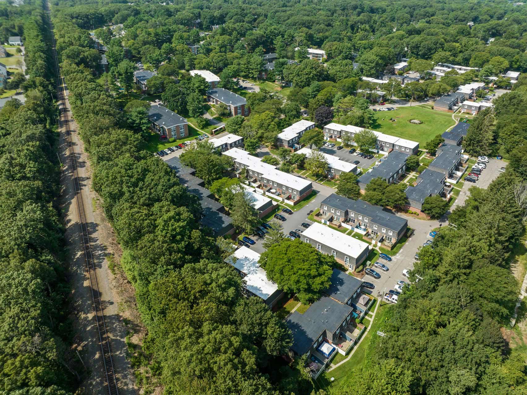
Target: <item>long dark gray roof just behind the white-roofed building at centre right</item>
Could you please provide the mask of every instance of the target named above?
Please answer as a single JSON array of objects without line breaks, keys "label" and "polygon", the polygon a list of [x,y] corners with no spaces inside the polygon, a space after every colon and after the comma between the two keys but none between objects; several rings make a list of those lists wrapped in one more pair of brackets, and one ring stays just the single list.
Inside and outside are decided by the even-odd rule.
[{"label": "long dark gray roof just behind the white-roofed building at centre right", "polygon": [[367,216],[373,223],[392,230],[396,230],[397,232],[405,229],[408,225],[408,221],[406,219],[397,217],[394,214],[386,213],[386,211],[383,211],[382,207],[374,206],[367,203],[367,201],[360,199],[352,200],[345,198],[344,196],[331,194],[325,198],[321,204],[334,207],[341,211],[355,211],[355,213]]}]

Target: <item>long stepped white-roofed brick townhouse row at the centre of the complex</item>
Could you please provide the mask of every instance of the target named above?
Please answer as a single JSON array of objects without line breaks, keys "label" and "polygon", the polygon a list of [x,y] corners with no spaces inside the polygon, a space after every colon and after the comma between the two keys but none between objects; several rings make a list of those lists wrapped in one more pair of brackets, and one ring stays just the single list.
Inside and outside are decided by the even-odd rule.
[{"label": "long stepped white-roofed brick townhouse row at the centre of the complex", "polygon": [[249,152],[232,148],[223,152],[233,161],[237,174],[245,172],[250,185],[278,196],[288,204],[297,204],[313,191],[313,183],[306,179],[278,170],[275,166],[262,162],[261,158],[249,155]]}]

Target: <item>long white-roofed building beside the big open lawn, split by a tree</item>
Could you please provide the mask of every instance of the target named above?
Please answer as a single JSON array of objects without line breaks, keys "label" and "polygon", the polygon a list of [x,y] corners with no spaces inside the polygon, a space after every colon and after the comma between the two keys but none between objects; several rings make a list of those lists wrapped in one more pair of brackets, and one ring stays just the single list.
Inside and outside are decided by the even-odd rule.
[{"label": "long white-roofed building beside the big open lawn, split by a tree", "polygon": [[[349,136],[353,139],[355,134],[362,130],[363,128],[357,126],[345,126],[331,122],[324,127],[324,137],[327,140],[340,140],[343,136]],[[373,130],[373,133],[377,136],[375,149],[379,151],[391,152],[394,150],[405,152],[410,155],[415,155],[419,151],[419,143],[416,141],[401,139],[375,130]]]}]

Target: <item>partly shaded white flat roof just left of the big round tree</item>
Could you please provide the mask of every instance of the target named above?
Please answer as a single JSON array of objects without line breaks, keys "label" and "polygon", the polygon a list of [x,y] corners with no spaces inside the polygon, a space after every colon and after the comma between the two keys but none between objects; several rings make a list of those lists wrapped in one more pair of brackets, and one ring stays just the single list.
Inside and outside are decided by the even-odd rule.
[{"label": "partly shaded white flat roof just left of the big round tree", "polygon": [[265,270],[258,265],[258,259],[260,259],[260,254],[256,251],[247,247],[240,247],[226,261],[246,274],[243,281],[247,290],[260,296],[263,300],[267,300],[278,290],[278,286],[268,280]]}]

